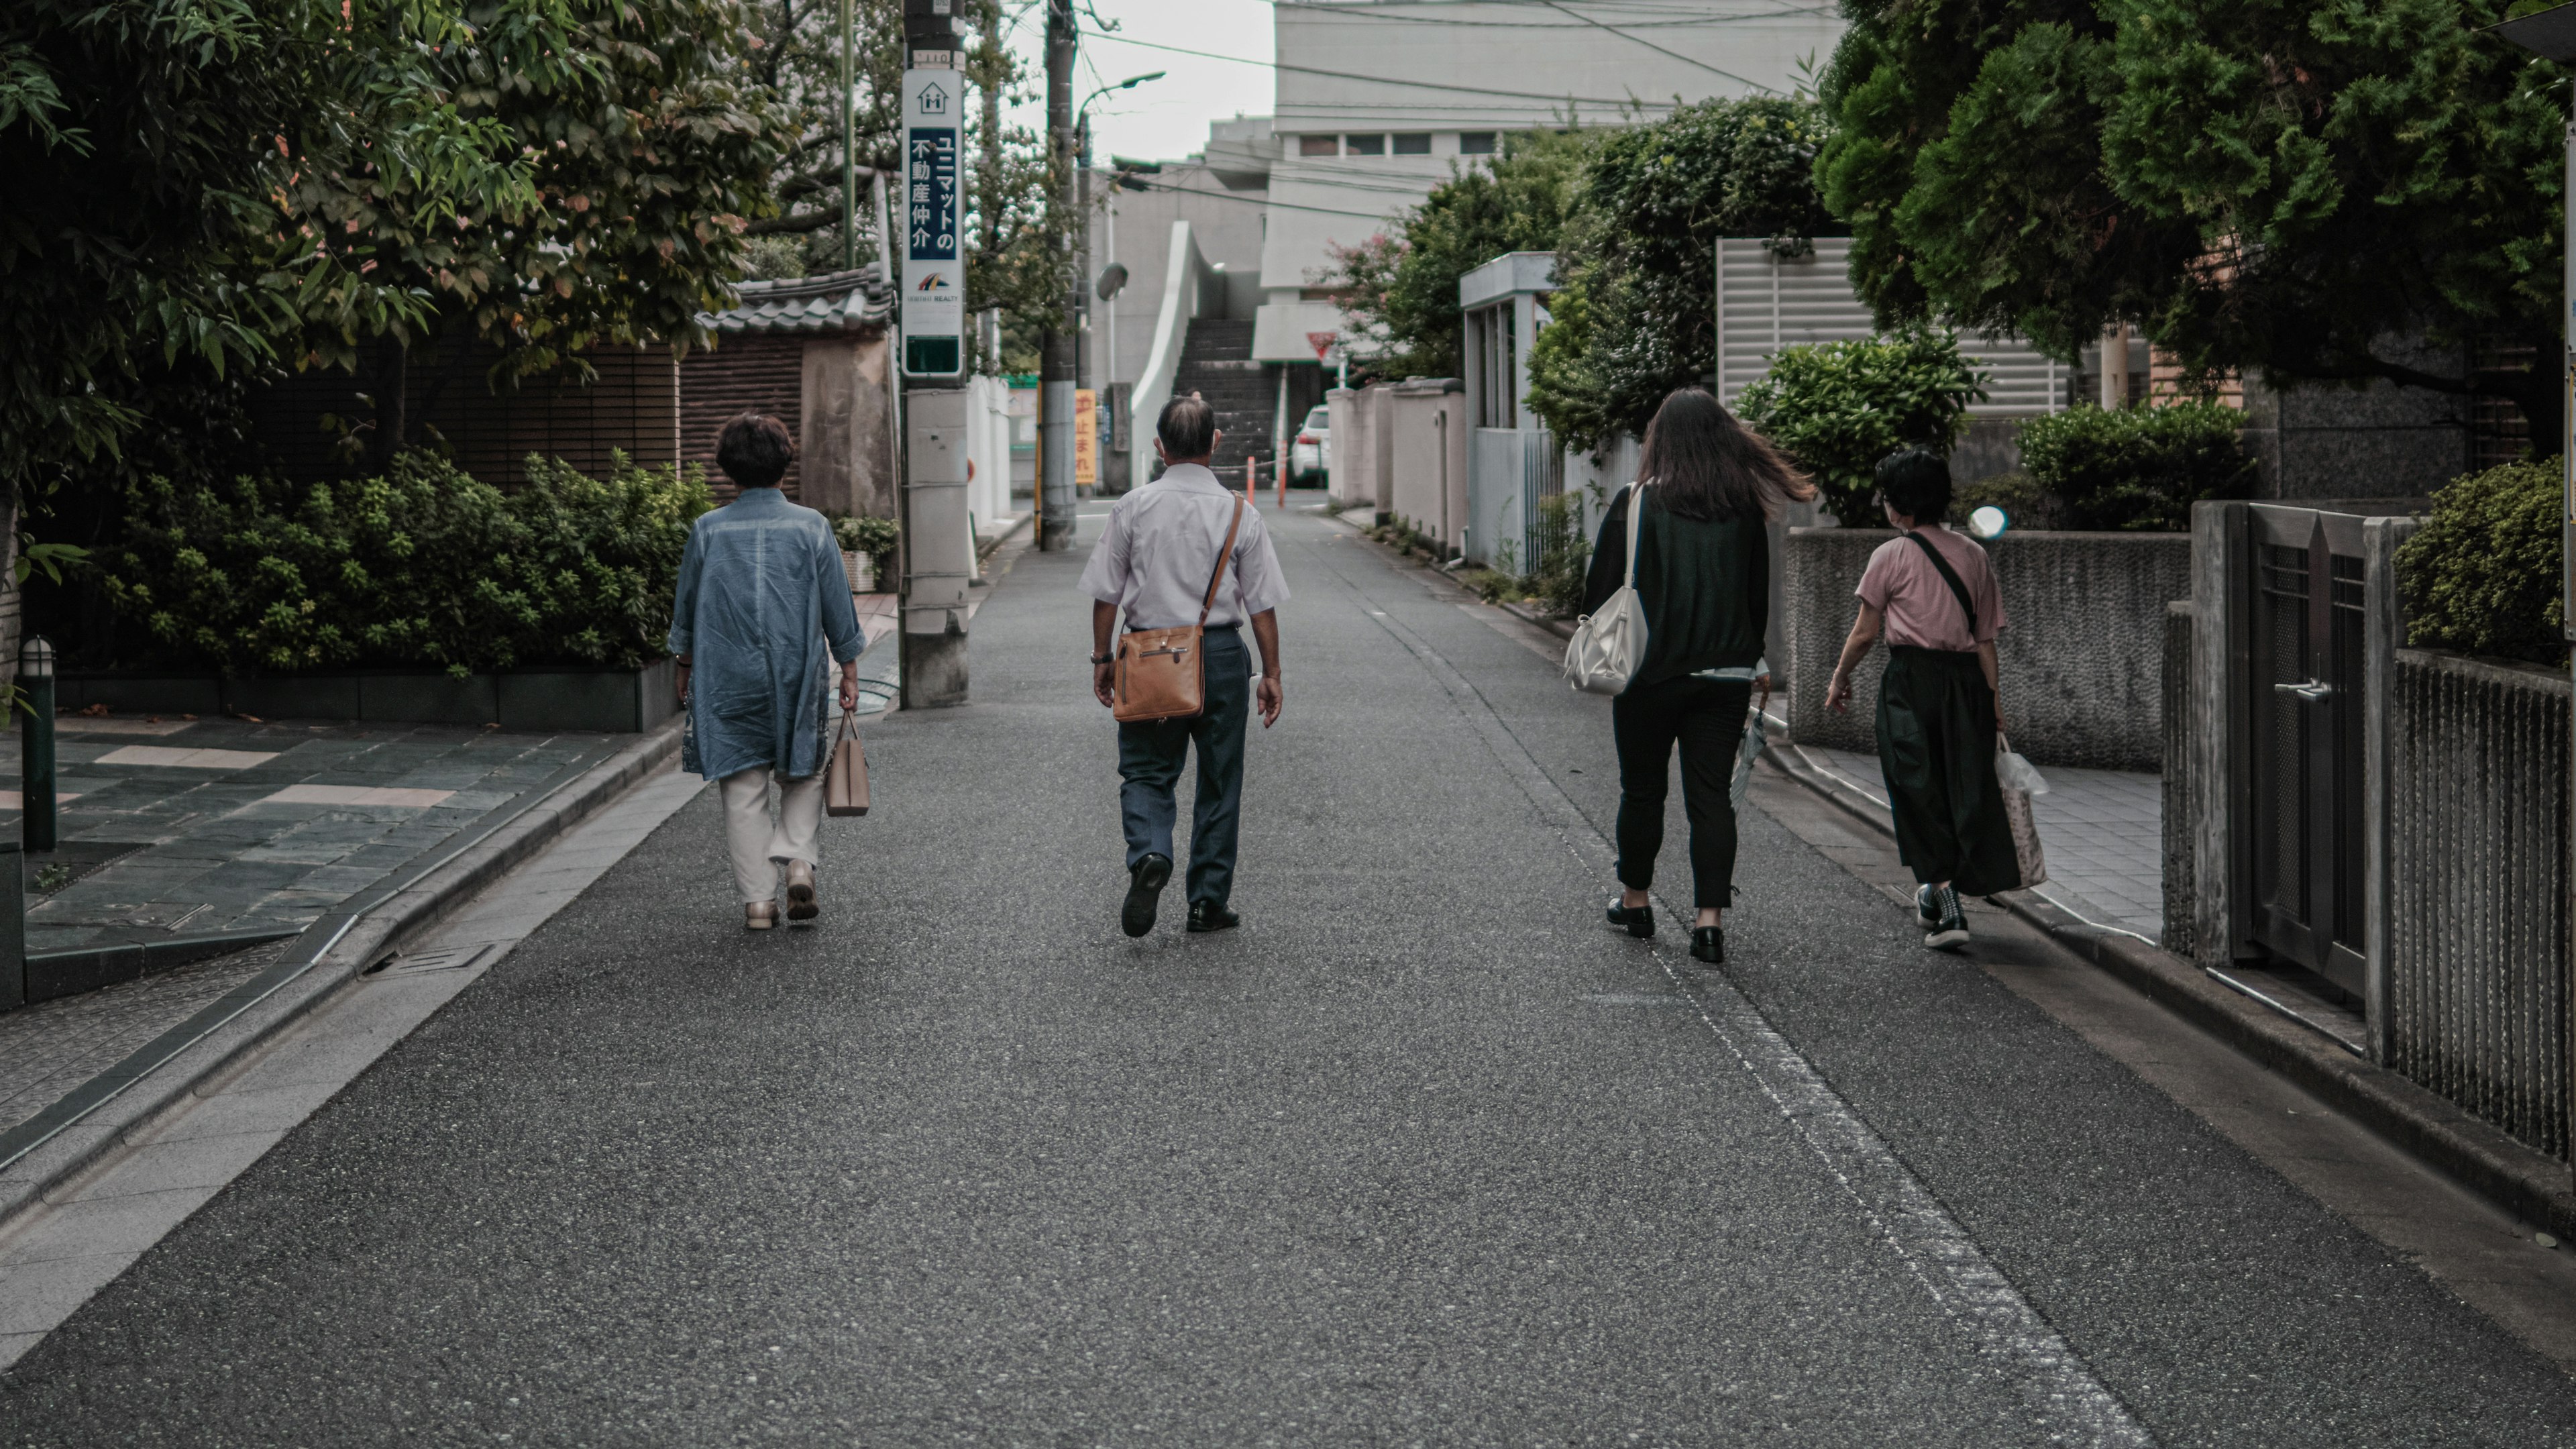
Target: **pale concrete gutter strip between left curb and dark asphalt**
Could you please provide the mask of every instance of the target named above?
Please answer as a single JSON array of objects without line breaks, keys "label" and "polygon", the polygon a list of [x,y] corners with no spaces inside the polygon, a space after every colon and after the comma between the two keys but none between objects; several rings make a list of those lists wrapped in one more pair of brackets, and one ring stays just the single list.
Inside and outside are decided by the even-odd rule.
[{"label": "pale concrete gutter strip between left curb and dark asphalt", "polygon": [[703,786],[677,771],[634,786],[502,877],[394,967],[355,977],[247,1062],[134,1127],[121,1147],[10,1222],[0,1235],[0,1369],[474,985],[510,946],[572,905]]}]

